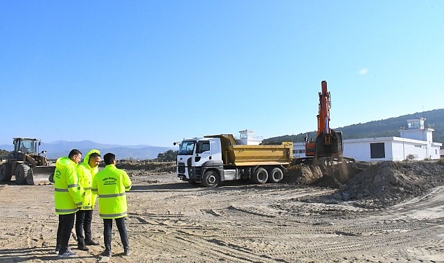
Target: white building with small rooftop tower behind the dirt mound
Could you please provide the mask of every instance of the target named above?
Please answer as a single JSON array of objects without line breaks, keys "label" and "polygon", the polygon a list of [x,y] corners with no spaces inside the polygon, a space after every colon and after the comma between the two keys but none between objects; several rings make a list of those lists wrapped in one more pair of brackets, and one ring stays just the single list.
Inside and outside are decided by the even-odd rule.
[{"label": "white building with small rooftop tower behind the dirt mound", "polygon": [[[432,140],[432,125],[424,125],[425,118],[407,120],[400,127],[400,137],[380,137],[344,140],[344,156],[356,161],[404,161],[441,158],[442,143]],[[293,144],[294,158],[305,157],[304,143]],[[407,157],[408,156],[408,157]]]}]

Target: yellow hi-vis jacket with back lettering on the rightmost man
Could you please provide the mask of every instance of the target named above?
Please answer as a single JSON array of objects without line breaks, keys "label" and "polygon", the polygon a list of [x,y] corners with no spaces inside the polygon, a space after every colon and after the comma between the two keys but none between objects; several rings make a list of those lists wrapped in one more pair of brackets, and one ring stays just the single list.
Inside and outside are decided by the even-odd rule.
[{"label": "yellow hi-vis jacket with back lettering on the rightmost man", "polygon": [[114,219],[127,216],[126,193],[131,189],[130,176],[117,169],[116,165],[107,165],[93,179],[92,192],[98,194],[98,208],[101,218]]}]

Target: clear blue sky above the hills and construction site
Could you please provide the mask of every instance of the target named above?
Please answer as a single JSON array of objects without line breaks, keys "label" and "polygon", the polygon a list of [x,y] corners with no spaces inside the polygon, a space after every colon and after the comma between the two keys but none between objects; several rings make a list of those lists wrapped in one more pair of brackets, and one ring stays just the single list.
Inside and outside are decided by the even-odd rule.
[{"label": "clear blue sky above the hills and construction site", "polygon": [[[0,1],[0,144],[172,147],[444,107],[444,1]],[[37,120],[37,121],[35,121]]]}]

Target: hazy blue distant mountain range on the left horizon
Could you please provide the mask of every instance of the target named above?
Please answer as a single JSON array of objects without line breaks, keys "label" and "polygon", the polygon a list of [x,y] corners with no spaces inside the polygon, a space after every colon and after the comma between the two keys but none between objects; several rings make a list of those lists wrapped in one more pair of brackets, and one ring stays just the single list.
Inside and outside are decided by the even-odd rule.
[{"label": "hazy blue distant mountain range on the left horizon", "polygon": [[[12,141],[10,145],[0,145],[0,149],[12,151],[14,149]],[[40,151],[46,151],[46,157],[49,159],[57,159],[61,156],[68,156],[71,149],[79,149],[83,155],[87,154],[91,149],[98,149],[100,153],[105,155],[107,152],[116,154],[118,159],[141,159],[148,160],[157,158],[159,153],[167,152],[169,147],[157,147],[150,145],[110,145],[102,143],[94,143],[91,140],[82,140],[78,142],[69,142],[58,140],[54,143],[42,143],[39,147]]]}]

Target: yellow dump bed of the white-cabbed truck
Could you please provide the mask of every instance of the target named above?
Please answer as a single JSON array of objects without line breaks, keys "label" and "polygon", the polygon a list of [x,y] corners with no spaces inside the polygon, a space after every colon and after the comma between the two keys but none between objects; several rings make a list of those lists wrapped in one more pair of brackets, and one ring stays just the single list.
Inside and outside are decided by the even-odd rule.
[{"label": "yellow dump bed of the white-cabbed truck", "polygon": [[289,165],[293,143],[280,145],[240,145],[231,134],[205,136],[220,138],[224,165]]}]

